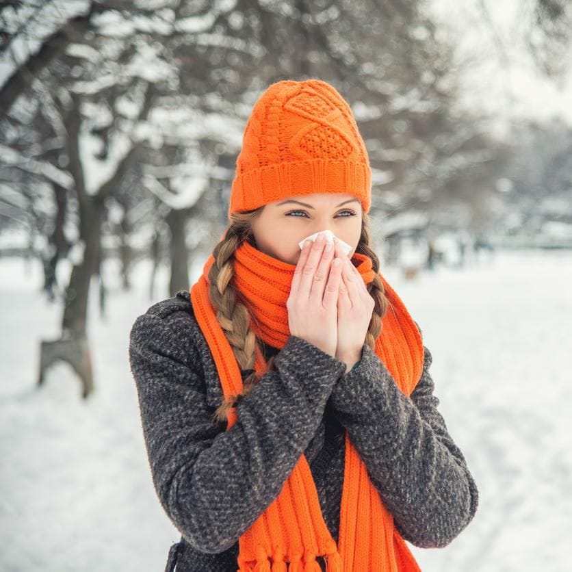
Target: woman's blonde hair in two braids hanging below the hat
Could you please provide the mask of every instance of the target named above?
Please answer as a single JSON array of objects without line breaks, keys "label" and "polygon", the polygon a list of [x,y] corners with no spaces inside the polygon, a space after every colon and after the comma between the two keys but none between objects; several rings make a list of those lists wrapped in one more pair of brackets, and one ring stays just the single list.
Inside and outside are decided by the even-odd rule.
[{"label": "woman's blonde hair in two braids hanging below the hat", "polygon": [[[248,311],[247,302],[239,290],[231,284],[234,271],[235,250],[245,241],[255,246],[252,234],[252,221],[259,216],[264,207],[242,213],[231,213],[231,224],[226,229],[224,239],[213,248],[214,263],[209,270],[209,298],[216,309],[216,317],[231,348],[240,369],[254,369],[255,348],[261,340],[257,339],[254,331],[250,328],[251,321],[255,316]],[[374,349],[377,337],[381,333],[382,318],[385,315],[389,300],[385,296],[385,289],[378,276],[379,259],[370,246],[369,239],[369,216],[362,209],[361,235],[356,252],[367,255],[372,259],[372,270],[376,273],[374,280],[367,285],[367,291],[374,298],[375,307],[372,320],[369,322],[365,343]],[[274,356],[267,363],[267,371],[274,368]],[[213,421],[226,420],[226,415],[237,400],[250,393],[257,384],[259,376],[252,372],[244,380],[244,388],[241,393],[231,395],[213,413]]]}]

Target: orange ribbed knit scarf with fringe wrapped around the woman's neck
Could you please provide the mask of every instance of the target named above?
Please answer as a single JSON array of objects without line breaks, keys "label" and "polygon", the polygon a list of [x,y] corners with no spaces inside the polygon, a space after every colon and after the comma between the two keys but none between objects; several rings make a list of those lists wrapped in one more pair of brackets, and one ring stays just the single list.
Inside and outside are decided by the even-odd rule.
[{"label": "orange ribbed knit scarf with fringe wrapped around the woman's neck", "polygon": [[[220,376],[225,398],[242,391],[242,376],[229,341],[224,336],[208,296],[211,255],[203,275],[190,287],[196,320],[203,331]],[[352,263],[365,284],[374,279],[372,260],[355,253]],[[295,265],[257,250],[248,242],[235,251],[235,288],[256,318],[250,326],[259,339],[283,348],[290,333],[286,301]],[[405,395],[410,395],[423,368],[421,333],[395,291],[379,275],[393,309],[382,321],[375,351]],[[257,347],[255,371],[265,372]],[[228,415],[227,430],[237,421],[236,408]],[[315,482],[304,454],[285,481],[281,493],[239,538],[237,572],[320,572],[316,556],[325,556],[328,572],[414,572],[415,558],[395,528],[346,430],[346,456],[336,545],[322,516]]]}]

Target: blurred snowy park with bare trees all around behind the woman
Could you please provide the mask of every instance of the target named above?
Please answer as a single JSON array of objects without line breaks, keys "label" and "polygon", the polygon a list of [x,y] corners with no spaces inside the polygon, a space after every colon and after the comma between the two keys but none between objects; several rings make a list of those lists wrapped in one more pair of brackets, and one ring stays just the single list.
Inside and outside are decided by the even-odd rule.
[{"label": "blurred snowy park with bare trees all around behind the woman", "polygon": [[316,77],[480,489],[421,568],[568,571],[571,67],[567,0],[1,2],[0,569],[164,569],[129,330],[202,272],[261,92]]}]

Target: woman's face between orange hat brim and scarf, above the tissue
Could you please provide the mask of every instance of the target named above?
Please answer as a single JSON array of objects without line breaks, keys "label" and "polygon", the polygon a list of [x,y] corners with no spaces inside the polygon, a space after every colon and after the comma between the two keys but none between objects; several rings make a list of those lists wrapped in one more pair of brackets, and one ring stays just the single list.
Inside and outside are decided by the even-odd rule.
[{"label": "woman's face between orange hat brim and scarf, above the tissue", "polygon": [[252,222],[258,250],[294,265],[300,258],[298,242],[326,229],[352,247],[351,258],[361,235],[360,200],[338,193],[289,196],[264,205]]}]

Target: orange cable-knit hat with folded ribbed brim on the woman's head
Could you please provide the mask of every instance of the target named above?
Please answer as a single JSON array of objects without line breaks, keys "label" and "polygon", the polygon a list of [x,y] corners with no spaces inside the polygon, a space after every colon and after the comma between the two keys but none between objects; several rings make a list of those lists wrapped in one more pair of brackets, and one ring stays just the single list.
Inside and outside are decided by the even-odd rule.
[{"label": "orange cable-knit hat with folded ribbed brim on the woman's head", "polygon": [[352,110],[320,79],[282,80],[259,97],[236,161],[229,218],[288,196],[348,193],[369,211],[372,169]]}]

